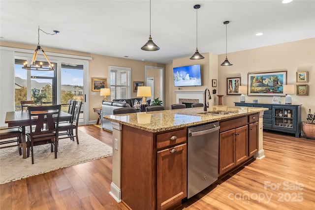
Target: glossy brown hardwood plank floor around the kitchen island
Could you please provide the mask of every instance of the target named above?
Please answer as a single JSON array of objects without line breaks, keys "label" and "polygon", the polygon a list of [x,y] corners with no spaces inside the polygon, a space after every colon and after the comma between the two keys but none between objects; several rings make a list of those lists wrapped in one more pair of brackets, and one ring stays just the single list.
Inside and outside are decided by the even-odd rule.
[{"label": "glossy brown hardwood plank floor around the kitchen island", "polygon": [[[94,125],[80,130],[112,146]],[[264,132],[266,157],[186,201],[183,210],[313,210],[315,141]],[[0,210],[126,210],[110,195],[112,157],[0,185]]]}]

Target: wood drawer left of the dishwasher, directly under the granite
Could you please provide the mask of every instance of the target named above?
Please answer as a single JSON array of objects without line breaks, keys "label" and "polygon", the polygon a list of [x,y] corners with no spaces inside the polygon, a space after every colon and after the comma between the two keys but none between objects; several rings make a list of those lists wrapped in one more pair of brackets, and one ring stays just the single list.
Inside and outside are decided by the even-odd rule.
[{"label": "wood drawer left of the dishwasher, directly under the granite", "polygon": [[157,135],[157,149],[187,142],[186,129],[171,131]]}]

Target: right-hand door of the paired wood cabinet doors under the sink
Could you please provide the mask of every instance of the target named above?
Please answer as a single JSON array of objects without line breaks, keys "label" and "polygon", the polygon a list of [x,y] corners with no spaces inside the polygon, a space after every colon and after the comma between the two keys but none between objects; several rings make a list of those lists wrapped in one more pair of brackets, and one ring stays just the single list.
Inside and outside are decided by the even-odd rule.
[{"label": "right-hand door of the paired wood cabinet doors under the sink", "polygon": [[248,159],[248,125],[235,129],[236,165]]}]

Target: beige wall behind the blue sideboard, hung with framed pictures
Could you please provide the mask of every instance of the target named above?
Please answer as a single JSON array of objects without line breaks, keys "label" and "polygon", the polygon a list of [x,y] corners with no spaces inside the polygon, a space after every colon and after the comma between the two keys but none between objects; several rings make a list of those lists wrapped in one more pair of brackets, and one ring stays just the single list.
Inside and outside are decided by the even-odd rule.
[{"label": "beige wall behind the blue sideboard, hung with framed pictures", "polygon": [[[309,95],[297,96],[296,90],[292,96],[292,104],[302,105],[302,121],[306,120],[309,109],[315,112],[315,38],[305,39],[284,44],[261,47],[251,50],[227,54],[232,66],[219,65],[219,93],[223,94],[223,105],[233,106],[240,101],[240,96],[226,95],[226,78],[241,76],[242,85],[247,85],[248,73],[287,71],[288,84],[308,84]],[[225,55],[219,56],[219,63],[223,62]],[[308,83],[297,83],[296,72],[308,71]],[[271,103],[272,96],[247,96],[246,102]],[[285,104],[284,97],[281,97]]]}]

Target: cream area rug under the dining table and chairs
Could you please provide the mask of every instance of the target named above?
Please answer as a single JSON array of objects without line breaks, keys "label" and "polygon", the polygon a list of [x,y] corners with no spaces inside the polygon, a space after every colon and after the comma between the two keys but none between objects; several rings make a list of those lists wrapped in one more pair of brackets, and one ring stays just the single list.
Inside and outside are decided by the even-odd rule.
[{"label": "cream area rug under the dining table and chairs", "polygon": [[23,159],[17,147],[0,150],[0,184],[20,180],[49,171],[89,162],[113,154],[112,147],[94,137],[78,131],[79,144],[70,139],[59,141],[57,159],[50,151],[50,144],[34,147],[32,158]]}]

